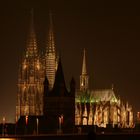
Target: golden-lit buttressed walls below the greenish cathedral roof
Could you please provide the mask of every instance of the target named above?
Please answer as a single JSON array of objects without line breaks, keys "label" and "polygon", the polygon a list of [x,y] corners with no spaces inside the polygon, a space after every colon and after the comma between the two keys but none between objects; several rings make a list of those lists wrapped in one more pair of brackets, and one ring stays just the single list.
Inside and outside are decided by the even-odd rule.
[{"label": "golden-lit buttressed walls below the greenish cathedral roof", "polygon": [[[77,101],[77,100],[75,100]],[[83,100],[86,101],[86,100]],[[92,101],[92,100],[90,100]],[[133,111],[132,107],[120,104],[120,102],[112,101],[100,101],[98,99],[94,102],[85,102],[84,108],[83,102],[76,102],[75,106],[75,124],[76,125],[97,125],[98,127],[106,127],[111,123],[112,127],[118,125],[120,128],[133,128]],[[84,110],[82,110],[84,109]],[[89,110],[89,112],[87,112]],[[83,114],[81,113],[83,112]],[[129,112],[129,113],[128,113]],[[129,115],[129,117],[128,117]],[[140,113],[138,113],[140,115]]]}]

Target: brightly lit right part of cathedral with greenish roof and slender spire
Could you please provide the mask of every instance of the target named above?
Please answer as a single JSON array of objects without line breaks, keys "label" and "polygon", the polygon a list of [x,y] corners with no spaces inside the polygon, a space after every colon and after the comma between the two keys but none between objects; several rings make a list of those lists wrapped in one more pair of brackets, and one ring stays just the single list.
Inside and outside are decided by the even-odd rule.
[{"label": "brightly lit right part of cathedral with greenish roof and slender spire", "polygon": [[80,90],[75,98],[75,125],[97,125],[98,127],[133,128],[132,106],[117,98],[111,89],[90,90],[84,50]]}]

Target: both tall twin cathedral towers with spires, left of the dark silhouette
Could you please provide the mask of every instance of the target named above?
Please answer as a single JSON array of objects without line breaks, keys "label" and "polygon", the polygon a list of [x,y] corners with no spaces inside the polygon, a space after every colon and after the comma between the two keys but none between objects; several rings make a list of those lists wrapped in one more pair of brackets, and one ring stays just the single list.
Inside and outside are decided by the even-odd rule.
[{"label": "both tall twin cathedral towers with spires, left of the dark silhouette", "polygon": [[44,80],[47,76],[49,88],[52,89],[57,69],[52,17],[46,41],[45,56],[38,52],[34,29],[33,11],[31,11],[30,30],[27,47],[19,68],[16,119],[20,116],[43,115]]}]

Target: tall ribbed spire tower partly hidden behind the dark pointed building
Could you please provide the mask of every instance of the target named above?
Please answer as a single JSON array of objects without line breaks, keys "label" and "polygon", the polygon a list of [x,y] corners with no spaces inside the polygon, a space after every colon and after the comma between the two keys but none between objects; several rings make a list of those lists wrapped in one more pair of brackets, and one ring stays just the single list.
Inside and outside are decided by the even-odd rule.
[{"label": "tall ribbed spire tower partly hidden behind the dark pointed building", "polygon": [[53,33],[53,21],[52,14],[50,13],[50,27],[47,39],[47,48],[45,53],[45,69],[46,76],[49,81],[49,88],[52,89],[55,80],[55,72],[57,69],[56,52],[55,52],[55,41]]}]

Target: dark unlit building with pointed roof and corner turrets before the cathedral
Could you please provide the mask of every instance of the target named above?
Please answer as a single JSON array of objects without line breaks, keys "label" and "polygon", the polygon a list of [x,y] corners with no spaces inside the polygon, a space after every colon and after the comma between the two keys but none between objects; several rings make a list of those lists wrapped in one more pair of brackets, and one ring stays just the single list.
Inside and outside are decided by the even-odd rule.
[{"label": "dark unlit building with pointed roof and corner turrets before the cathedral", "polygon": [[68,91],[61,60],[58,63],[52,90],[49,90],[47,77],[44,82],[44,115],[48,127],[52,130],[71,132],[75,125],[75,81],[72,78]]}]

